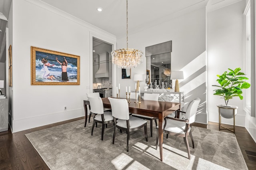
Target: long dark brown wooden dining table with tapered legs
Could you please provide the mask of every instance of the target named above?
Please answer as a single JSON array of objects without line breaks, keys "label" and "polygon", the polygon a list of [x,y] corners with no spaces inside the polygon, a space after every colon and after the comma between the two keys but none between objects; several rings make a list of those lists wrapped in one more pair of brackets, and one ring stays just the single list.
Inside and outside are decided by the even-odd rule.
[{"label": "long dark brown wooden dining table with tapered legs", "polygon": [[[108,98],[102,98],[104,108],[111,109]],[[176,102],[164,102],[164,101],[150,101],[141,100],[140,104],[138,100],[135,103],[135,99],[130,99],[131,103],[128,103],[129,112],[139,115],[145,115],[149,117],[158,118],[158,137],[159,137],[159,149],[160,149],[160,160],[163,161],[163,128],[164,128],[164,117],[170,115],[174,111],[180,110],[180,103]],[[87,105],[90,106],[89,100],[84,100],[84,111],[85,111],[85,124],[87,122]]]}]

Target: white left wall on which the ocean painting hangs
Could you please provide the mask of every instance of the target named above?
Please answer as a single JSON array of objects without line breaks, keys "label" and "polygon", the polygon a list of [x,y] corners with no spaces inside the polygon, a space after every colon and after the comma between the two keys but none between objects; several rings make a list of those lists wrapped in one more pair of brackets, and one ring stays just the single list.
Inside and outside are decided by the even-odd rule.
[{"label": "white left wall on which the ocean painting hangs", "polygon": [[[84,116],[92,86],[90,34],[115,36],[38,0],[13,0],[12,15],[13,132]],[[30,85],[30,46],[79,55],[80,85]]]}]

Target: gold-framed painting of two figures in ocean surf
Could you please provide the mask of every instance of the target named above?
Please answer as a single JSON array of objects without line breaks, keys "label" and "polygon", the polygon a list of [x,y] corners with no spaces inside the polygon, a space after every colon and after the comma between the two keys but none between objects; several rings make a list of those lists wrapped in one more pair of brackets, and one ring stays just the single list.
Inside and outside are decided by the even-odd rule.
[{"label": "gold-framed painting of two figures in ocean surf", "polygon": [[31,46],[31,85],[80,85],[80,56]]}]

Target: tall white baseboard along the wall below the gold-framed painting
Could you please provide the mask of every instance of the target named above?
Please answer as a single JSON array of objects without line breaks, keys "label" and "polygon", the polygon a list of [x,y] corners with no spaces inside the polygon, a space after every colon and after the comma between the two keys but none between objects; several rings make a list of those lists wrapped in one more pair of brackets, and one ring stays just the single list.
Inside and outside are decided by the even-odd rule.
[{"label": "tall white baseboard along the wall below the gold-framed painting", "polygon": [[19,132],[30,128],[41,127],[52,123],[66,121],[84,116],[84,109],[65,111],[61,113],[54,113],[50,115],[42,115],[38,117],[31,117],[21,120],[12,121],[12,132]]}]

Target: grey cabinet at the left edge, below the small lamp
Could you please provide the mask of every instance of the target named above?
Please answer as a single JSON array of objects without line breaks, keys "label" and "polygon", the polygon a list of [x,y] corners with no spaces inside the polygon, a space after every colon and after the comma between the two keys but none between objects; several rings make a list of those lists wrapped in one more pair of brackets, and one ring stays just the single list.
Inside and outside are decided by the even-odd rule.
[{"label": "grey cabinet at the left edge, below the small lamp", "polygon": [[8,99],[0,99],[0,132],[8,130]]}]

